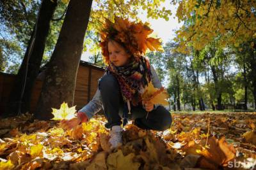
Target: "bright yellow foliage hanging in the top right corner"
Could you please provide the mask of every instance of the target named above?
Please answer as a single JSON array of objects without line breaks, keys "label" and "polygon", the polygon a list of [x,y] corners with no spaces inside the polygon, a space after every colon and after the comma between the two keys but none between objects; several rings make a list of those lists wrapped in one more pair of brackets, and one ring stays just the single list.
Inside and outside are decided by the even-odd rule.
[{"label": "bright yellow foliage hanging in the top right corner", "polygon": [[[227,8],[228,6],[228,8]],[[218,37],[221,47],[234,45],[239,47],[255,36],[256,17],[252,8],[255,1],[179,1],[176,16],[179,22],[193,20],[195,24],[180,27],[177,31],[179,47],[177,50],[188,53],[189,47],[202,50]],[[193,13],[193,15],[191,15]],[[184,43],[185,42],[185,43]]]}]

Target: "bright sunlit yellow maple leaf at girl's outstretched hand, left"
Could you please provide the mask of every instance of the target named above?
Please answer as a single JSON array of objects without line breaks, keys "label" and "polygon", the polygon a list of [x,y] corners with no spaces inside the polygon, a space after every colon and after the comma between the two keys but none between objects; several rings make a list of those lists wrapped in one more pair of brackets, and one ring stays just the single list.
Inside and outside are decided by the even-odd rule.
[{"label": "bright sunlit yellow maple leaf at girl's outstretched hand, left", "polygon": [[52,120],[70,120],[71,118],[75,117],[75,113],[76,106],[68,108],[68,104],[63,102],[59,110],[52,108],[52,114],[54,115],[54,118],[52,118]]}]

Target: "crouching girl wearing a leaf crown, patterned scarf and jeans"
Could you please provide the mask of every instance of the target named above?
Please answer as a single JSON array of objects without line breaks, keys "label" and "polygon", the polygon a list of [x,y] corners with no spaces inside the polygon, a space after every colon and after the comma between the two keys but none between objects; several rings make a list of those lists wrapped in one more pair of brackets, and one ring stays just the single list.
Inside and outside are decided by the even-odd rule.
[{"label": "crouching girl wearing a leaf crown, patterned scarf and jeans", "polygon": [[[141,129],[164,131],[172,124],[172,117],[163,106],[141,100],[145,87],[152,81],[155,88],[162,87],[156,71],[143,56],[145,50],[159,50],[159,39],[148,38],[152,29],[141,22],[115,18],[106,20],[100,32],[102,54],[107,65],[106,73],[99,80],[98,90],[90,103],[77,113],[77,118],[62,120],[65,129],[87,122],[102,107],[111,129],[111,148],[122,145],[123,125],[127,118]],[[131,114],[130,114],[131,113]]]}]

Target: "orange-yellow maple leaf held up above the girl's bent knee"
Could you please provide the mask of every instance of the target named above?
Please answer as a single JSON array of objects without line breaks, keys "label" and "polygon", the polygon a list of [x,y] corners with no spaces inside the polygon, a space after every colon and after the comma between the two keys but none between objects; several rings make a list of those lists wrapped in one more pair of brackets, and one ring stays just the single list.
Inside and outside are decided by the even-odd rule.
[{"label": "orange-yellow maple leaf held up above the girl's bent knee", "polygon": [[142,100],[145,102],[150,101],[153,104],[162,104],[163,106],[168,105],[166,99],[168,98],[168,93],[164,88],[156,89],[152,84],[152,81],[148,83],[148,87],[145,89],[145,92],[141,96]]}]

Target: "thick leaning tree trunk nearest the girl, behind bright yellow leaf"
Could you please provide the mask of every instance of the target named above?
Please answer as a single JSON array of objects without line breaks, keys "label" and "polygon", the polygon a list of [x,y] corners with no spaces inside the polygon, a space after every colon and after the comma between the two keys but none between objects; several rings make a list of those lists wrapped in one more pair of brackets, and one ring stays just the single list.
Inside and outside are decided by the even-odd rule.
[{"label": "thick leaning tree trunk nearest the girl, behind bright yellow leaf", "polygon": [[68,4],[36,106],[35,117],[40,120],[52,118],[51,108],[60,108],[63,102],[73,106],[77,69],[91,8],[92,0],[70,0]]}]

